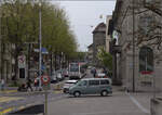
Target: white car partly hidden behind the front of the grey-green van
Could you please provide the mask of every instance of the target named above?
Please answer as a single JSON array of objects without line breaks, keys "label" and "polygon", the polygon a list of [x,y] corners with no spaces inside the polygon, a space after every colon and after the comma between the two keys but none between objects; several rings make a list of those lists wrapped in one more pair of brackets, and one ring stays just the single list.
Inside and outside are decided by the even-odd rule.
[{"label": "white car partly hidden behind the front of the grey-green van", "polygon": [[67,93],[69,91],[69,88],[76,85],[78,80],[66,80],[64,86],[63,86],[63,91],[64,93]]}]

